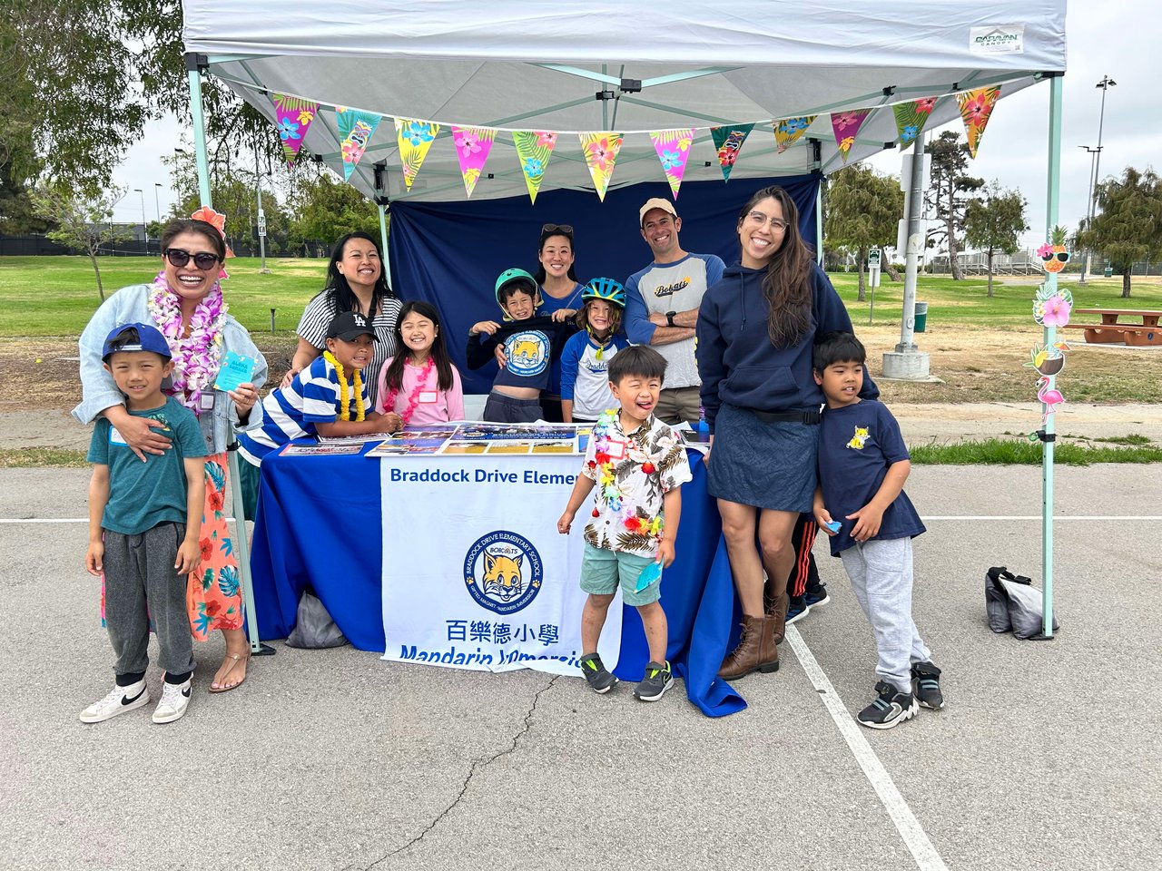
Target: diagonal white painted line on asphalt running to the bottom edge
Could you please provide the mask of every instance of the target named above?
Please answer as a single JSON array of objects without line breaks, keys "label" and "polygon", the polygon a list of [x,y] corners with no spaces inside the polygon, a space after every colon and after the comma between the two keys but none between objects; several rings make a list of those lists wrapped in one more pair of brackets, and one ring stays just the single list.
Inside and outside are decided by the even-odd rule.
[{"label": "diagonal white painted line on asphalt running to the bottom edge", "polygon": [[839,698],[839,693],[831,685],[831,681],[827,679],[827,676],[819,667],[815,655],[811,653],[811,648],[806,646],[798,629],[794,626],[788,626],[786,640],[798,657],[799,664],[803,665],[803,671],[811,681],[811,685],[815,686],[816,692],[818,692],[824,707],[831,714],[831,719],[835,721],[839,734],[844,736],[852,755],[855,756],[855,761],[863,769],[865,776],[867,776],[871,787],[880,797],[880,801],[883,802],[884,809],[888,812],[891,821],[896,823],[896,829],[899,832],[899,836],[904,838],[904,844],[908,847],[909,852],[912,854],[912,858],[916,859],[917,868],[920,871],[948,871],[948,866],[940,858],[937,848],[932,845],[928,836],[924,833],[924,827],[916,819],[912,808],[904,801],[904,797],[899,794],[899,790],[896,789],[896,783],[891,779],[891,775],[888,773],[883,763],[880,762],[880,757],[875,755],[875,750],[871,749],[871,746],[860,730],[859,725],[856,725],[855,720],[847,712],[844,700]]}]

